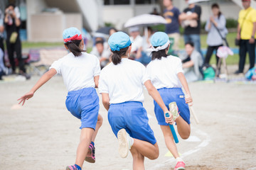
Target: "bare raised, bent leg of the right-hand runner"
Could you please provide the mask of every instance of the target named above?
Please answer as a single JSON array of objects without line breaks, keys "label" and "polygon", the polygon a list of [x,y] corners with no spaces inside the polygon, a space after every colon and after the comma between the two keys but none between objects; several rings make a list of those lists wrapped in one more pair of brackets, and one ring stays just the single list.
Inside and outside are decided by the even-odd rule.
[{"label": "bare raised, bent leg of the right-hand runner", "polygon": [[183,140],[188,139],[190,133],[191,133],[191,127],[188,125],[188,123],[183,120],[181,116],[178,116],[176,119],[177,123],[177,129],[178,129],[178,134],[181,136]]}]

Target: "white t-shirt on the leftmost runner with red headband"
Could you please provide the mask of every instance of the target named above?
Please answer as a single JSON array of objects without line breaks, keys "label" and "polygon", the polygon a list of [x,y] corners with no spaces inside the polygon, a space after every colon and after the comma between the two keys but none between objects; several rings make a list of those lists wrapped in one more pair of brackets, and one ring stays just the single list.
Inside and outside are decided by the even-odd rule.
[{"label": "white t-shirt on the leftmost runner with red headband", "polygon": [[72,52],[53,62],[50,69],[62,74],[68,91],[95,87],[94,77],[100,75],[100,62],[95,55],[82,52],[75,57]]}]

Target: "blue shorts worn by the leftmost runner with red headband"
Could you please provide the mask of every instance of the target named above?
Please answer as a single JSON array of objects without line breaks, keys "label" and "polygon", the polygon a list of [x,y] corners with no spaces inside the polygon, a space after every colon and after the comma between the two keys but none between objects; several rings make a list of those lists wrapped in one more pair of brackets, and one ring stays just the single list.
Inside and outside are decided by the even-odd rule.
[{"label": "blue shorts worn by the leftmost runner with red headband", "polygon": [[69,91],[65,104],[68,111],[81,120],[80,129],[92,128],[95,130],[100,105],[94,88]]}]

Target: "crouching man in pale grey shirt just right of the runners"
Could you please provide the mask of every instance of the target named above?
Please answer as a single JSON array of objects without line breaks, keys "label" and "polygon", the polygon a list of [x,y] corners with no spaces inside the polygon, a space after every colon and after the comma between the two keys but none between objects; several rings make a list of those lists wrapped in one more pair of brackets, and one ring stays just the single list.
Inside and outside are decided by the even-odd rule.
[{"label": "crouching man in pale grey shirt just right of the runners", "polygon": [[186,58],[182,60],[182,67],[186,80],[191,82],[203,79],[203,75],[201,74],[203,59],[200,53],[193,46],[193,42],[187,42],[185,50]]}]

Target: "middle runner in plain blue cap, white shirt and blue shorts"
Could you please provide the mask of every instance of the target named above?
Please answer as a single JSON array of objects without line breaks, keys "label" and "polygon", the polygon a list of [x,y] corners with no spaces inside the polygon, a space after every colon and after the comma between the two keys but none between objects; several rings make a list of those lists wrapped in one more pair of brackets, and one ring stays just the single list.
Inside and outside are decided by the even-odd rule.
[{"label": "middle runner in plain blue cap, white shirt and blue shorts", "polygon": [[[108,111],[112,131],[118,138],[120,157],[127,157],[130,150],[133,168],[144,169],[144,157],[156,159],[159,157],[159,147],[142,104],[143,86],[146,86],[164,113],[169,111],[146,76],[144,65],[128,59],[132,50],[129,36],[117,32],[110,36],[108,43],[113,55],[112,63],[100,72],[102,103]],[[171,118],[166,118],[166,121],[173,123]]]}]

